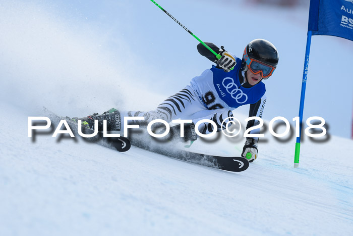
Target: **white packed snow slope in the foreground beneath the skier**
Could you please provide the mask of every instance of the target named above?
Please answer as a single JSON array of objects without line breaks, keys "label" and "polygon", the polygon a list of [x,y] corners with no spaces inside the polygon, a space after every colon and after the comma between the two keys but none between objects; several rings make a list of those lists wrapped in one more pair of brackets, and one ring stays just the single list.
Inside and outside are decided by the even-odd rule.
[{"label": "white packed snow slope in the foreground beneath the skier", "polygon": [[[349,235],[353,141],[260,144],[232,173],[52,132],[27,137],[26,112],[1,103],[1,235]],[[6,112],[4,112],[6,111]],[[234,144],[191,151],[239,154]],[[214,149],[218,148],[218,149]],[[218,152],[217,152],[218,151]]]}]

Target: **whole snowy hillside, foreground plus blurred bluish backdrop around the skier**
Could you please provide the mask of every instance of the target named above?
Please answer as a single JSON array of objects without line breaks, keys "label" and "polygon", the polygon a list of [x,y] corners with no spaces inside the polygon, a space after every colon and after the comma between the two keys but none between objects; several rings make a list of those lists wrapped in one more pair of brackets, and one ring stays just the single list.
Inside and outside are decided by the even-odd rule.
[{"label": "whole snowy hillside, foreground plus blurred bluish backdrop around the skier", "polygon": [[[254,38],[272,41],[281,59],[265,82],[264,119],[297,116],[307,8],[158,3],[234,54]],[[267,131],[259,158],[245,172],[230,173],[134,147],[118,153],[80,138],[53,138],[52,130],[28,137],[28,116],[41,116],[43,106],[78,117],[111,107],[150,110],[210,67],[195,39],[150,1],[8,1],[0,4],[0,31],[0,235],[353,231],[353,141],[344,138],[352,42],[313,37],[305,118],[324,117],[328,140],[305,136],[294,169],[295,138],[278,141]],[[247,109],[236,111],[238,119]],[[190,150],[240,155],[243,143],[197,140]]]}]

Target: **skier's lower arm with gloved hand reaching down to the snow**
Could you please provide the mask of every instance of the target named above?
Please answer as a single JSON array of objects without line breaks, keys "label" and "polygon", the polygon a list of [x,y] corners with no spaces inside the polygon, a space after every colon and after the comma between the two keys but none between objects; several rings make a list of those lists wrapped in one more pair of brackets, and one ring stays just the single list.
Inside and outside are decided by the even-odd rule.
[{"label": "skier's lower arm with gloved hand reaching down to the snow", "polygon": [[[257,101],[256,103],[250,105],[249,117],[256,116],[256,117],[262,118],[265,105],[266,105],[266,95],[262,96],[262,98],[259,101]],[[250,121],[248,121],[247,129],[258,125],[259,123],[260,123],[259,120],[250,120]],[[249,133],[250,134],[259,134],[260,128],[251,130]],[[251,157],[249,157],[250,155],[248,155],[248,157],[247,157],[249,162],[253,162],[257,158],[257,155],[258,155],[257,142],[258,141],[259,141],[259,137],[247,137],[247,140],[246,140],[244,148],[243,148],[242,157],[247,157],[247,154],[250,153]]]}]

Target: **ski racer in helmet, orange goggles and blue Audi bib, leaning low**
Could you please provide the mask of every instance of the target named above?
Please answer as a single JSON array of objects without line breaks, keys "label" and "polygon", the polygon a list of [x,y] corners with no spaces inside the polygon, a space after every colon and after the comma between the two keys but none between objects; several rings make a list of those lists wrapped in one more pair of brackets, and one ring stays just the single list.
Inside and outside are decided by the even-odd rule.
[{"label": "ski racer in helmet, orange goggles and blue Audi bib, leaning low", "polygon": [[[217,131],[225,128],[223,119],[233,117],[232,111],[240,106],[250,104],[249,117],[262,117],[266,104],[265,84],[263,79],[268,79],[278,64],[278,52],[275,46],[265,39],[255,39],[247,44],[243,58],[237,58],[215,44],[206,44],[215,52],[219,52],[218,60],[204,45],[197,45],[198,52],[216,63],[205,70],[200,76],[194,77],[190,84],[180,92],[167,98],[159,106],[149,112],[128,111],[119,112],[109,110],[102,115],[93,114],[81,118],[87,127],[94,127],[94,120],[98,120],[98,129],[102,130],[103,120],[107,120],[107,129],[121,131],[124,117],[144,117],[143,121],[129,121],[129,124],[146,124],[155,119],[171,122],[174,119],[191,119],[192,123],[184,125],[184,137],[180,136],[180,125],[170,128],[173,139],[182,141],[195,141],[195,124],[203,119],[212,120],[217,125]],[[230,118],[231,119],[231,118]],[[259,121],[251,120],[247,129],[257,125]],[[209,123],[199,125],[199,132],[208,134],[213,131]],[[178,130],[178,131],[176,131]],[[260,129],[250,133],[260,133]],[[258,155],[258,137],[247,137],[242,157],[251,153],[249,162],[254,161]]]}]

